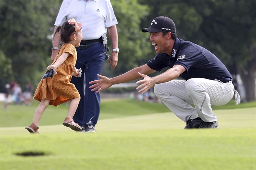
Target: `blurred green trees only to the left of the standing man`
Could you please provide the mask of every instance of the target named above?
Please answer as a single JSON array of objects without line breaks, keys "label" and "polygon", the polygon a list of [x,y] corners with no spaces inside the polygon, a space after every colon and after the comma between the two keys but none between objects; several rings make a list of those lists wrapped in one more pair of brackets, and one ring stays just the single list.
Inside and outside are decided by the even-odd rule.
[{"label": "blurred green trees only to the left of the standing man", "polygon": [[0,89],[16,81],[36,87],[51,63],[53,23],[61,0],[0,1]]}]

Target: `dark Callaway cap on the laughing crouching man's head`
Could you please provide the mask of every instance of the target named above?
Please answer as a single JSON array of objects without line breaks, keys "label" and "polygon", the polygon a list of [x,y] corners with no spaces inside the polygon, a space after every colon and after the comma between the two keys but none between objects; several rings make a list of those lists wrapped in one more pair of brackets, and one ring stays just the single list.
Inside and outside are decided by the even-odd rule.
[{"label": "dark Callaway cap on the laughing crouching man's head", "polygon": [[142,29],[141,31],[144,33],[145,32],[156,33],[160,31],[168,31],[168,32],[176,33],[176,28],[171,18],[164,16],[164,17],[156,17],[151,22],[151,26],[149,28]]}]

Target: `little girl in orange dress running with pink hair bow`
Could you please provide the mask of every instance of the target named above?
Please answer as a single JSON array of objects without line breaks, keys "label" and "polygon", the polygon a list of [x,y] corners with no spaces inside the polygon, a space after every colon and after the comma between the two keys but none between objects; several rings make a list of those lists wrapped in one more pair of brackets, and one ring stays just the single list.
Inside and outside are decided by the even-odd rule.
[{"label": "little girl in orange dress running with pink hair bow", "polygon": [[[76,69],[76,48],[82,40],[82,24],[76,23],[72,18],[59,26],[56,30],[61,36],[62,46],[52,65],[46,69],[53,69],[54,76],[42,79],[35,91],[34,99],[40,101],[35,110],[33,123],[26,127],[30,133],[39,132],[39,121],[48,105],[58,105],[70,101],[67,117],[62,123],[74,131],[82,131],[82,128],[73,121],[76,108],[80,101],[80,95],[74,84],[70,83],[72,75],[81,77],[81,69]],[[55,35],[56,35],[55,32]],[[54,36],[53,36],[54,37]]]}]

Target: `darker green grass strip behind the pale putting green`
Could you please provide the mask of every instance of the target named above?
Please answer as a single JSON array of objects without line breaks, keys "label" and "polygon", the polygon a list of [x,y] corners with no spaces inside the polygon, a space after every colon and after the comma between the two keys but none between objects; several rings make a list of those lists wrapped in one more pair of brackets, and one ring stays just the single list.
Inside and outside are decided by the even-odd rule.
[{"label": "darker green grass strip behind the pale putting green", "polygon": [[[0,106],[3,104],[3,102],[0,102]],[[0,110],[0,127],[18,127],[30,125],[38,104],[38,101],[33,100],[32,107],[9,105],[7,110],[2,108]],[[213,110],[251,107],[256,107],[256,101],[236,105],[235,101],[232,100],[223,106],[212,106]],[[67,116],[67,110],[68,107],[65,104],[59,105],[58,108],[50,105],[46,108],[46,111],[44,111],[40,121],[40,126],[61,124]],[[99,120],[165,112],[170,112],[170,110],[164,104],[147,103],[131,99],[102,99]]]}]

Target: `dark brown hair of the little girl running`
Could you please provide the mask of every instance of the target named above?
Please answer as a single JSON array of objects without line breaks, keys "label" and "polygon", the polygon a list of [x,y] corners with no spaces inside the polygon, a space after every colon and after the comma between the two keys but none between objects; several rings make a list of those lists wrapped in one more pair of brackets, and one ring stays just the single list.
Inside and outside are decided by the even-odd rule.
[{"label": "dark brown hair of the little girl running", "polygon": [[53,37],[55,37],[57,32],[61,36],[61,44],[68,43],[70,41],[70,35],[72,35],[76,32],[75,25],[69,24],[69,22],[66,21],[62,24],[62,26],[57,27],[56,32]]}]

